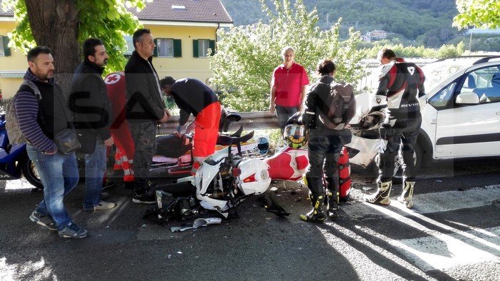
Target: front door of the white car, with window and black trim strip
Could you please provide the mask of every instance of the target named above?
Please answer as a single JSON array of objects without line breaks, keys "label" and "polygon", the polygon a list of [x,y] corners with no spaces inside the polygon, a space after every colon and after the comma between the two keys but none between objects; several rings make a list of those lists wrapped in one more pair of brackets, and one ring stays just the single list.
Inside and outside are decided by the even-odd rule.
[{"label": "front door of the white car, with window and black trim strip", "polygon": [[[499,69],[479,68],[454,82],[447,106],[437,110],[436,158],[500,155],[500,85],[495,89],[496,82],[492,82],[496,73],[500,77]],[[461,93],[476,93],[477,101],[457,103]]]}]

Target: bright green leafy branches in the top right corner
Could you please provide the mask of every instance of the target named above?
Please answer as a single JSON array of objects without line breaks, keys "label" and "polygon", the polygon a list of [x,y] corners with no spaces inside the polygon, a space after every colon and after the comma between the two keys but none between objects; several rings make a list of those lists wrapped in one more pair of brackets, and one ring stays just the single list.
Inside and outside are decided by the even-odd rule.
[{"label": "bright green leafy branches in the top right corner", "polygon": [[453,18],[453,26],[464,29],[476,26],[485,29],[500,27],[500,1],[457,0],[459,14]]}]

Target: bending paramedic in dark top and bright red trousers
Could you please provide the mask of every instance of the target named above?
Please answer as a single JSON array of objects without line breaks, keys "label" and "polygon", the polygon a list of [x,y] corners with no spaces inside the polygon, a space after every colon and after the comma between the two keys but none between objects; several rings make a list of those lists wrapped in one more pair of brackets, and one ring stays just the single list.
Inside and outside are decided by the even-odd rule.
[{"label": "bending paramedic in dark top and bright red trousers", "polygon": [[184,131],[187,119],[194,116],[193,170],[195,172],[205,158],[215,152],[221,105],[214,91],[202,81],[194,78],[182,78],[175,81],[167,76],[160,81],[162,91],[174,98],[179,106],[180,117],[177,132]]}]

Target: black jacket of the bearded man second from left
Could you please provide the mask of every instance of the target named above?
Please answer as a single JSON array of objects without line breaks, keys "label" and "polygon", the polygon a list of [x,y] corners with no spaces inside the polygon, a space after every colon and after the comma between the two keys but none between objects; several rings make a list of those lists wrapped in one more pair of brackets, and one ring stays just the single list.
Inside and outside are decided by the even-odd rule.
[{"label": "black jacket of the bearded man second from left", "polygon": [[73,75],[69,105],[82,153],[93,153],[97,136],[103,141],[111,137],[113,117],[103,70],[95,63],[83,61]]}]

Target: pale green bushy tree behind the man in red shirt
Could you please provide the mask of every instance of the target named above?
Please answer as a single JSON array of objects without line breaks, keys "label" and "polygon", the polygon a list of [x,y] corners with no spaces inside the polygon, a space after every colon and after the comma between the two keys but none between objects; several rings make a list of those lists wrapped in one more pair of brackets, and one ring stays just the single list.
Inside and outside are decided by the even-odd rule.
[{"label": "pale green bushy tree behind the man in red shirt", "polygon": [[264,0],[259,1],[269,24],[259,21],[253,26],[219,30],[217,53],[210,57],[210,66],[224,105],[239,111],[268,110],[271,76],[283,62],[280,52],[284,46],[294,48],[296,62],[306,68],[311,81],[316,80],[313,73],[321,58],[335,61],[337,81],[355,83],[365,75],[360,63],[363,51],[357,48],[360,34],[350,29],[348,39],[340,41],[340,19],[330,30],[320,31],[316,9],[306,11],[303,0],[295,1],[295,9],[289,0],[274,0],[274,11]]}]

